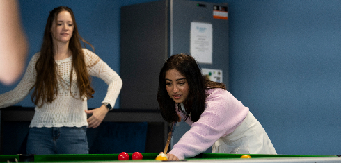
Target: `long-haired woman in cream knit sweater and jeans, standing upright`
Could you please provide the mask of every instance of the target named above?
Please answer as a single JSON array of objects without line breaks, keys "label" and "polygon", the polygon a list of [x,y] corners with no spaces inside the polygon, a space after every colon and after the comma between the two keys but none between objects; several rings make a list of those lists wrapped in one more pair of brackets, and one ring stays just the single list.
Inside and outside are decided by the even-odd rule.
[{"label": "long-haired woman in cream knit sweater and jeans, standing upright", "polygon": [[[100,125],[112,109],[122,80],[95,53],[82,49],[72,10],[54,8],[49,13],[40,53],[31,58],[24,77],[10,92],[0,95],[0,108],[14,105],[32,90],[36,105],[27,142],[28,154],[88,153],[86,128]],[[91,44],[89,44],[91,46]],[[94,89],[91,77],[109,85],[100,108],[88,110]],[[86,114],[92,114],[87,119]]]}]

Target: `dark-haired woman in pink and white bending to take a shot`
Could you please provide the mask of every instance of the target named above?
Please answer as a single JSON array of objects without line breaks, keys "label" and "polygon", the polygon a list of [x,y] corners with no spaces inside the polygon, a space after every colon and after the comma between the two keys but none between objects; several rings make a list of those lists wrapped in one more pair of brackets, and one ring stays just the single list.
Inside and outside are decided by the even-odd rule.
[{"label": "dark-haired woman in pink and white bending to take a shot", "polygon": [[168,160],[183,160],[203,153],[276,154],[262,128],[223,83],[207,80],[190,55],[172,55],[159,74],[157,101],[169,123],[179,114],[191,129],[173,149]]}]

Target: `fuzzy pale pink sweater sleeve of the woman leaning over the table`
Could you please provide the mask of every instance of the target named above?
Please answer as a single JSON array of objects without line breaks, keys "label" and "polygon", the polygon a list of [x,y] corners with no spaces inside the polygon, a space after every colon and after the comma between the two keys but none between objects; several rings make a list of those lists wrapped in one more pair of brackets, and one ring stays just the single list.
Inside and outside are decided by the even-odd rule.
[{"label": "fuzzy pale pink sweater sleeve of the woman leaning over the table", "polygon": [[223,89],[211,89],[209,92],[212,94],[206,99],[206,108],[200,119],[194,123],[187,119],[191,129],[169,152],[180,160],[206,151],[220,137],[233,132],[248,114],[248,108],[230,92]]}]

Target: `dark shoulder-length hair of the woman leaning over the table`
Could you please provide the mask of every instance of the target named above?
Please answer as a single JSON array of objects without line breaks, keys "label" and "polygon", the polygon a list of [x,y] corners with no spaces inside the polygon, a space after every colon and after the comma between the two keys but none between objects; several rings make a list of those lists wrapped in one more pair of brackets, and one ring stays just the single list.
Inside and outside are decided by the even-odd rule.
[{"label": "dark shoulder-length hair of the woman leaning over the table", "polygon": [[204,78],[198,63],[190,55],[182,53],[170,56],[160,71],[157,92],[157,101],[162,117],[169,123],[177,120],[177,111],[180,110],[180,103],[175,103],[166,90],[166,71],[170,69],[179,71],[186,78],[189,85],[189,94],[184,101],[186,111],[184,119],[189,118],[189,115],[191,115],[190,119],[192,121],[199,120],[200,115],[205,110],[205,100],[209,96],[206,94],[207,89],[226,89],[223,83],[217,83]]}]

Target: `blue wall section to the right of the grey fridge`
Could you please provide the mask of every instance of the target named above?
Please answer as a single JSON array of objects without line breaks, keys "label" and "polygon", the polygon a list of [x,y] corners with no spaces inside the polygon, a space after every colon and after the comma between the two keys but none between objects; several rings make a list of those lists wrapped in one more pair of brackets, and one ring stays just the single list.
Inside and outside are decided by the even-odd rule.
[{"label": "blue wall section to the right of the grey fridge", "polygon": [[341,1],[230,1],[230,92],[278,153],[340,154]]}]

